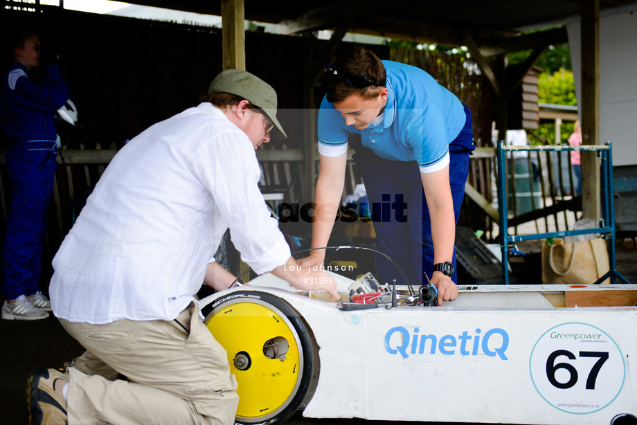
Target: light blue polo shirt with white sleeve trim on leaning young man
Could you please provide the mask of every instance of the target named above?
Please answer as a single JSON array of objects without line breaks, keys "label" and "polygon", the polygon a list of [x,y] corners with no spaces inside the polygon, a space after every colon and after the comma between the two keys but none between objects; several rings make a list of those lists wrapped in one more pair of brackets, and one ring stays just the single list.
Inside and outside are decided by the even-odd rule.
[{"label": "light blue polo shirt with white sleeve trim on leaning young man", "polygon": [[348,126],[325,97],[319,110],[319,152],[337,152],[334,150],[337,147],[346,149],[348,135],[361,134],[363,145],[384,159],[417,161],[423,172],[436,170],[436,165],[448,163],[449,143],[465,125],[464,106],[422,69],[388,60],[382,62],[389,92],[382,123],[362,130]]}]

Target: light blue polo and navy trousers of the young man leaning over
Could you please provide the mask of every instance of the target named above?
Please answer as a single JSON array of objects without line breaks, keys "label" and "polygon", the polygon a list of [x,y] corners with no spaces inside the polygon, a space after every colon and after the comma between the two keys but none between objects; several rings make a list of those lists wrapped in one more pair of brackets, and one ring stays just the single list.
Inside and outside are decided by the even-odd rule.
[{"label": "light blue polo and navy trousers of the young man leaning over", "polygon": [[[475,149],[469,109],[431,75],[405,64],[383,61],[387,72],[387,105],[383,123],[358,130],[346,126],[333,105],[323,99],[319,111],[319,141],[348,143],[370,201],[376,245],[399,264],[410,284],[426,284],[433,273],[433,240],[421,170],[436,167],[449,155],[449,183],[456,224],[465,194],[469,154]],[[377,255],[379,281],[402,275]],[[453,257],[456,266],[456,253]],[[451,277],[457,282],[457,275]]]}]

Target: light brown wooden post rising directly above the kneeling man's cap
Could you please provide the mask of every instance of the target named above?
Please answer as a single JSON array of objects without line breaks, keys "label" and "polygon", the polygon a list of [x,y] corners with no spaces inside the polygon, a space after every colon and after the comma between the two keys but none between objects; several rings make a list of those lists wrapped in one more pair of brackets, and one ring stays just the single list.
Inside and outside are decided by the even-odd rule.
[{"label": "light brown wooden post rising directly above the kneeling man's cap", "polygon": [[246,69],[246,30],[243,0],[222,0],[222,68]]}]

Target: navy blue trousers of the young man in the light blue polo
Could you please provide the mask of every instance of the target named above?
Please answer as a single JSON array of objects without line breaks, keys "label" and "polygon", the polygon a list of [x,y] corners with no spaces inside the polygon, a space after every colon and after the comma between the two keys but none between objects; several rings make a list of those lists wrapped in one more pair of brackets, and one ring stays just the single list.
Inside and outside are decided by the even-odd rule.
[{"label": "navy blue trousers of the young man in the light blue polo", "polygon": [[[469,172],[470,151],[465,146],[467,141],[473,143],[471,112],[466,106],[465,111],[465,127],[449,145],[449,186],[451,197],[454,199],[456,224],[465,197],[465,183]],[[352,159],[361,173],[370,201],[377,248],[400,265],[410,284],[427,284],[422,273],[427,273],[431,279],[433,239],[429,208],[424,197],[418,164],[390,161],[381,158],[360,143],[351,145],[355,150]],[[405,223],[397,219],[400,218],[397,209],[401,208],[401,202],[405,207]],[[388,217],[390,219],[387,219]],[[455,249],[452,262],[456,268]],[[395,266],[384,257],[377,255],[376,265],[383,283],[395,279],[397,284],[404,284],[402,276],[396,273]],[[458,274],[454,273],[451,280],[458,284]]]}]

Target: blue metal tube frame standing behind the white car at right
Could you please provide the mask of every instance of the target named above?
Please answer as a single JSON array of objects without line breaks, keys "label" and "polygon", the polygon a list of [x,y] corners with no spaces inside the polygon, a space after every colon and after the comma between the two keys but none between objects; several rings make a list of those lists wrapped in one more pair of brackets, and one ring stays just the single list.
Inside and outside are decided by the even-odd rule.
[{"label": "blue metal tube frame standing behind the white car at right", "polygon": [[[537,233],[534,235],[509,235],[508,234],[508,210],[506,193],[506,152],[510,151],[597,151],[598,157],[602,161],[601,186],[604,188],[602,195],[602,219],[600,227],[584,230],[565,230],[562,232]],[[564,237],[575,235],[589,235],[592,233],[602,233],[606,239],[610,240],[609,265],[610,270],[595,284],[604,282],[607,278],[611,283],[616,283],[616,279],[624,283],[630,283],[616,270],[615,261],[615,209],[613,204],[613,151],[611,143],[606,145],[580,145],[580,146],[508,146],[504,141],[499,141],[497,151],[498,161],[498,208],[500,215],[500,250],[502,253],[502,277],[503,283],[509,284],[509,243],[533,239],[548,239],[550,237]],[[504,237],[503,237],[504,236]]]}]

